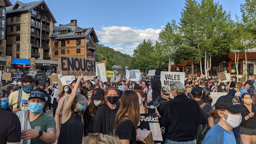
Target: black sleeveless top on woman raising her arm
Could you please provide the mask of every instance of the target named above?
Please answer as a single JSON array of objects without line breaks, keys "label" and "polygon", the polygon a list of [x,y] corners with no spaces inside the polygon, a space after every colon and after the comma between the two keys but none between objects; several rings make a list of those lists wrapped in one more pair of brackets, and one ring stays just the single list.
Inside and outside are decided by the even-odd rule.
[{"label": "black sleeveless top on woman raising her arm", "polygon": [[83,137],[83,122],[81,116],[74,112],[76,116],[71,114],[71,117],[64,123],[60,124],[60,136],[58,144],[82,143]]}]

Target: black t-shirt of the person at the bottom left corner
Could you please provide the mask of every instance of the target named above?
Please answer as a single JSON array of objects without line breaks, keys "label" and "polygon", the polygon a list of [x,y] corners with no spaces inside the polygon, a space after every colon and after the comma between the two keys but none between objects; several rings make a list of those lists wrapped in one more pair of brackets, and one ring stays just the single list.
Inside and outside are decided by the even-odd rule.
[{"label": "black t-shirt of the person at the bottom left corner", "polygon": [[21,127],[16,114],[0,108],[0,143],[20,142]]}]

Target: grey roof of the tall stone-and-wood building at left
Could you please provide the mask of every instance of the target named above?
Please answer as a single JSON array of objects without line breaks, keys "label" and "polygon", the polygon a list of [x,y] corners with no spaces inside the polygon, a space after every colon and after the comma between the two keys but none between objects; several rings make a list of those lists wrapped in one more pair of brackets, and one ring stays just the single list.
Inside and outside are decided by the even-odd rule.
[{"label": "grey roof of the tall stone-and-wood building at left", "polygon": [[[13,6],[6,7],[6,13],[14,13],[14,12],[23,12],[23,11],[31,11],[33,8],[44,4],[46,7],[47,13],[45,14],[47,17],[50,17],[52,19],[53,23],[57,23],[56,19],[52,15],[50,9],[46,5],[45,1],[37,1],[37,2],[31,2],[31,3],[22,3],[20,1],[16,1],[16,3]],[[19,6],[18,8],[14,9],[16,6]]]}]

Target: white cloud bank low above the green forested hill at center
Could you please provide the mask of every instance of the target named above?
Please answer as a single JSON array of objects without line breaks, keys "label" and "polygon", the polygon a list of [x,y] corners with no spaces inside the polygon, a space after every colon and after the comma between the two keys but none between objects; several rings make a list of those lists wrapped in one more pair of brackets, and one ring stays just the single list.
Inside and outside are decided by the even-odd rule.
[{"label": "white cloud bank low above the green forested hill at center", "polygon": [[150,39],[155,44],[158,34],[161,31],[161,29],[138,29],[135,27],[121,26],[102,27],[101,29],[102,31],[95,30],[101,44],[129,55],[132,55],[133,49],[139,43],[142,43],[144,39],[146,41]]}]

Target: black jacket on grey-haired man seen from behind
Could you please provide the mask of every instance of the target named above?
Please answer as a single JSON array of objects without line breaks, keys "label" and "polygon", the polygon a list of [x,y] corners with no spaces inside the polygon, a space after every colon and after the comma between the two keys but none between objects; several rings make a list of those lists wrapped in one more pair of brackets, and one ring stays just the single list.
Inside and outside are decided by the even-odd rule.
[{"label": "black jacket on grey-haired man seen from behind", "polygon": [[159,123],[168,127],[166,138],[190,141],[196,138],[197,124],[204,124],[205,117],[196,100],[181,94],[166,103],[164,117],[159,117]]}]

